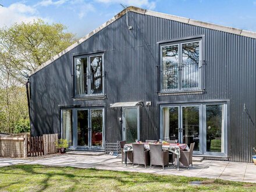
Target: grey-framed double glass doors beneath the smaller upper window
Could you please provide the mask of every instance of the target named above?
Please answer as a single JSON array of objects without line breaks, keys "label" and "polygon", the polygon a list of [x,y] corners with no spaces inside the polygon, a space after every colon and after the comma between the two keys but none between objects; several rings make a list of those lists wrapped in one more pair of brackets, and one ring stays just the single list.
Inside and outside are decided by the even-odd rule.
[{"label": "grey-framed double glass doors beneath the smaller upper window", "polygon": [[74,134],[77,148],[104,147],[103,113],[103,109],[77,109]]}]

